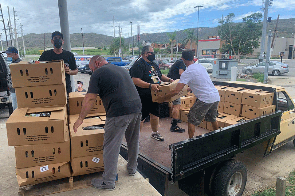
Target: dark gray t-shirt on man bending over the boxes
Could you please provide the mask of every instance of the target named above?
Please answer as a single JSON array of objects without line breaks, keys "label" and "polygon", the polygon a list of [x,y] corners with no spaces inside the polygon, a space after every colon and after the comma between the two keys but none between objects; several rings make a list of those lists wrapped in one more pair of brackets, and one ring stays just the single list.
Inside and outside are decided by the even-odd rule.
[{"label": "dark gray t-shirt on man bending over the boxes", "polygon": [[106,64],[90,77],[87,93],[100,96],[106,116],[116,117],[141,113],[141,100],[127,70]]}]

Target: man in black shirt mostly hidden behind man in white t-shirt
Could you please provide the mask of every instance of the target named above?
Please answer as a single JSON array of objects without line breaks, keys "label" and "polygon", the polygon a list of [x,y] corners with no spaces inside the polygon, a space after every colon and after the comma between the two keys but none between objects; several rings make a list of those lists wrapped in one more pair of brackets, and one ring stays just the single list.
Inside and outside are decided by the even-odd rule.
[{"label": "man in black shirt mostly hidden behind man in white t-shirt", "polygon": [[[177,80],[180,78],[180,75],[186,70],[186,66],[183,63],[182,59],[177,60],[172,67],[170,68],[167,77],[172,78],[173,80]],[[178,119],[179,110],[180,110],[180,97],[174,101],[172,101],[172,126],[170,127],[170,131],[173,132],[184,132],[185,129],[177,126],[177,123],[181,123],[181,120]]]}]

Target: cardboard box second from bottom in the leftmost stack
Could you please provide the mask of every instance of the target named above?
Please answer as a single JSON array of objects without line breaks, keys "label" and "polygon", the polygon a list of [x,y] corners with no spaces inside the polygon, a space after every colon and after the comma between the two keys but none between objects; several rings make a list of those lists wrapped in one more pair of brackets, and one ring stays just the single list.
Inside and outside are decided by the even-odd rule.
[{"label": "cardboard box second from bottom in the leftmost stack", "polygon": [[71,161],[70,136],[65,132],[65,142],[14,146],[16,168]]}]

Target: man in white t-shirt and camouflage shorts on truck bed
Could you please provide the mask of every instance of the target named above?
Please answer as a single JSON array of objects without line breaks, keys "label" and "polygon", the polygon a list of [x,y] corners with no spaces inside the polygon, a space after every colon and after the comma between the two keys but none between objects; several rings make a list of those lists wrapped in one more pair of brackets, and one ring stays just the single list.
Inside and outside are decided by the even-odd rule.
[{"label": "man in white t-shirt and camouflage shorts on truck bed", "polygon": [[195,104],[187,115],[188,136],[192,138],[195,134],[195,125],[198,126],[204,118],[205,121],[212,123],[214,130],[218,129],[216,117],[218,117],[217,109],[220,97],[205,67],[193,61],[194,55],[192,50],[183,51],[181,59],[187,69],[181,74],[176,87],[167,95],[159,96],[158,102],[164,102],[177,95],[185,85],[189,86],[187,91],[192,91],[197,97]]}]

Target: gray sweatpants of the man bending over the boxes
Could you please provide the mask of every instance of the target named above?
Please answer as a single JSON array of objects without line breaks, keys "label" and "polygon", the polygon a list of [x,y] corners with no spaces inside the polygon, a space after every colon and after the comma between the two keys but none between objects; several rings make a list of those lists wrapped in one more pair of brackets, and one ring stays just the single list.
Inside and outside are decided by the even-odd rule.
[{"label": "gray sweatpants of the man bending over the boxes", "polygon": [[117,165],[123,136],[128,146],[129,173],[135,173],[139,151],[140,113],[106,118],[104,126],[104,173],[102,179],[107,185],[115,185]]}]

